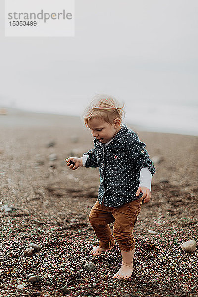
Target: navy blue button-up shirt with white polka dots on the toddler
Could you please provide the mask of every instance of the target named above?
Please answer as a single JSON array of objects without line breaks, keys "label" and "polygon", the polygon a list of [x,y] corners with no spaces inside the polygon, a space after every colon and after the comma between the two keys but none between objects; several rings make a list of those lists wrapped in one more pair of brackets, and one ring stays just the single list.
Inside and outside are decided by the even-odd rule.
[{"label": "navy blue button-up shirt with white polka dots on the toddler", "polygon": [[94,139],[95,149],[84,153],[87,155],[85,167],[99,167],[100,204],[103,202],[105,206],[118,207],[142,196],[142,193],[136,196],[140,170],[148,167],[152,175],[155,173],[145,146],[125,124],[122,124],[122,128],[107,146]]}]

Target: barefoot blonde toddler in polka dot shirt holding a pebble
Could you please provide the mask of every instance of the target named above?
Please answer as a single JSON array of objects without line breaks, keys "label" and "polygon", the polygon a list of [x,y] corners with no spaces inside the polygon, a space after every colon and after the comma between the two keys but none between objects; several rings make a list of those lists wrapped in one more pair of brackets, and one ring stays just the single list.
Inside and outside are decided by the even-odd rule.
[{"label": "barefoot blonde toddler in polka dot shirt holding a pebble", "polygon": [[[93,247],[90,254],[96,256],[112,249],[115,238],[122,254],[122,265],[114,275],[119,279],[129,278],[133,273],[133,228],[142,201],[150,201],[151,179],[155,173],[145,143],[122,123],[123,107],[112,96],[95,96],[84,112],[85,125],[95,138],[95,148],[81,158],[67,159],[72,170],[79,166],[99,167],[98,199],[89,214],[99,245]],[[109,227],[113,222],[114,238]]]}]

